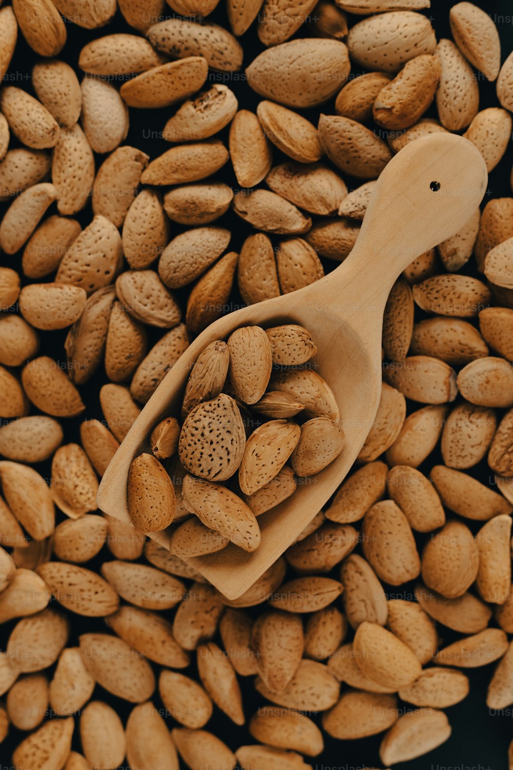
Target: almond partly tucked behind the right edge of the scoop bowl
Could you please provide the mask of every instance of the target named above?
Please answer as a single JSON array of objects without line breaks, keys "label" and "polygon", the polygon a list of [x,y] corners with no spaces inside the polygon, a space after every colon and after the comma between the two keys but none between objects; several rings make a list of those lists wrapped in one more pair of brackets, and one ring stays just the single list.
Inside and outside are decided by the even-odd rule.
[{"label": "almond partly tucked behind the right edge of the scoop bowl", "polygon": [[368,437],[358,454],[361,463],[369,463],[394,444],[405,422],[406,401],[399,390],[381,383],[378,411]]}]

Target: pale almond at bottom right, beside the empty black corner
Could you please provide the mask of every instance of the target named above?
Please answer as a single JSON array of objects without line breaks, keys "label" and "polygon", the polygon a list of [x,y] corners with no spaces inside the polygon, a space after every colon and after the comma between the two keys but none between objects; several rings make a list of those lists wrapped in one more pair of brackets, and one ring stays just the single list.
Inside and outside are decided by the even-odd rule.
[{"label": "pale almond at bottom right, beside the empty black corner", "polygon": [[415,759],[437,748],[451,735],[451,725],[443,711],[421,708],[398,718],[379,747],[384,765]]}]

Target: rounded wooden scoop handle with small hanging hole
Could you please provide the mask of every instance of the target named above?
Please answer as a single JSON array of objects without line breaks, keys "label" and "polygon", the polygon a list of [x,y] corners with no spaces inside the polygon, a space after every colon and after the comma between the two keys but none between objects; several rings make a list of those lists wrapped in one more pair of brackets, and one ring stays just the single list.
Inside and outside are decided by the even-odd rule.
[{"label": "rounded wooden scoop handle with small hanging hole", "polygon": [[340,280],[364,272],[379,280],[386,300],[414,259],[468,222],[487,183],[485,161],[468,139],[443,132],[415,139],[381,172]]}]

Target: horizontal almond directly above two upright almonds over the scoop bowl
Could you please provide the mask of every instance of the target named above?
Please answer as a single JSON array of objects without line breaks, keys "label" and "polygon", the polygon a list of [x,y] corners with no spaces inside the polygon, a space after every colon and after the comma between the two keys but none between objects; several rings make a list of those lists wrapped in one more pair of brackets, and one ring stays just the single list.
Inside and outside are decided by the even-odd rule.
[{"label": "horizontal almond directly above two upright almonds over the scoop bowl", "polygon": [[232,208],[245,222],[267,233],[306,233],[311,228],[310,217],[285,198],[265,189],[236,192]]}]

